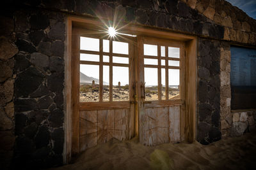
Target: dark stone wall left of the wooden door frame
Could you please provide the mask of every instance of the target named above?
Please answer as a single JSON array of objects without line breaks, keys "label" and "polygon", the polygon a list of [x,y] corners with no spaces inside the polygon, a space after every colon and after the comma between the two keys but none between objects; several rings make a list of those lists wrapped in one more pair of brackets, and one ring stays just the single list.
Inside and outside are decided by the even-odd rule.
[{"label": "dark stone wall left of the wooden door frame", "polygon": [[11,11],[1,16],[1,168],[61,165],[64,16]]}]

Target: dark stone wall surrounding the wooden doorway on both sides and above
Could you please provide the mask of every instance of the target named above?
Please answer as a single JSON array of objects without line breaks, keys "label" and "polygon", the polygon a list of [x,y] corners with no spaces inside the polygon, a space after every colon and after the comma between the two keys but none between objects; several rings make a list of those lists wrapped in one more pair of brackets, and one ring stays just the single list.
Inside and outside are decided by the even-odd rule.
[{"label": "dark stone wall surrounding the wooden doorway on both sides and above", "polygon": [[[0,134],[1,138],[6,139],[1,141],[1,146],[5,146],[1,154],[10,154],[10,162],[14,148],[12,165],[16,167],[51,167],[62,164],[67,15],[102,17],[112,21],[116,18],[130,24],[198,36],[197,139],[204,144],[220,139],[221,132],[225,134],[225,129],[220,132],[220,117],[223,122],[231,114],[228,111],[230,95],[223,94],[228,92],[223,90],[228,85],[228,58],[224,64],[222,60],[227,55],[230,57],[229,44],[220,40],[255,45],[255,20],[243,18],[244,14],[242,18],[234,18],[233,14],[233,17],[228,17],[229,13],[223,7],[218,7],[222,0],[211,3],[193,0],[185,2],[190,6],[194,2],[195,7],[192,5],[190,8],[183,1],[177,0],[10,1],[1,11],[4,15],[1,14],[0,18],[3,23],[1,25],[4,25],[4,29],[1,27],[3,35],[0,38],[0,65],[4,68],[0,70],[0,93],[3,96],[0,111],[4,120],[1,122]],[[202,3],[204,5],[200,8]],[[225,6],[229,10],[233,9],[230,4],[225,3]],[[213,19],[212,14],[207,13],[209,11],[214,13]],[[218,14],[221,15],[220,22]],[[230,22],[222,20],[229,21],[229,18],[232,25],[225,25]],[[241,29],[236,21],[240,23]],[[223,104],[226,104],[226,108]],[[10,142],[6,143],[7,140]]]}]

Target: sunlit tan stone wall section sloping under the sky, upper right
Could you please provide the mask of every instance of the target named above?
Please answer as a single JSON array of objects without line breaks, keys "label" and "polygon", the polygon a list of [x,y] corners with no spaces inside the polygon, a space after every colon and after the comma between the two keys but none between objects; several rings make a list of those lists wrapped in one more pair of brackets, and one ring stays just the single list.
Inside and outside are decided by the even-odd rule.
[{"label": "sunlit tan stone wall section sloping under the sky, upper right", "polygon": [[256,44],[256,20],[224,0],[182,0],[216,24],[224,26],[224,38],[250,45]]}]

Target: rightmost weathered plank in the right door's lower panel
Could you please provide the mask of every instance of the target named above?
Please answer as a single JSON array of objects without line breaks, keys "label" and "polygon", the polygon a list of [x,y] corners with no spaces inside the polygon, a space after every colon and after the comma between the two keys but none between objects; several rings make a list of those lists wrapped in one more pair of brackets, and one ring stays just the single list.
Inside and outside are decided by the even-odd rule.
[{"label": "rightmost weathered plank in the right door's lower panel", "polygon": [[169,107],[170,142],[180,141],[180,106]]}]

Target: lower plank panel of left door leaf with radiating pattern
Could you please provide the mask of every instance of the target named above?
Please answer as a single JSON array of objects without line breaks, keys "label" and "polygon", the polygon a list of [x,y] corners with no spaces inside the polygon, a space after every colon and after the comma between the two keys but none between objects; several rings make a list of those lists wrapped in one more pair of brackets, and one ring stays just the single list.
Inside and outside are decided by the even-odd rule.
[{"label": "lower plank panel of left door leaf with radiating pattern", "polygon": [[129,109],[80,111],[80,152],[112,138],[129,138]]}]

